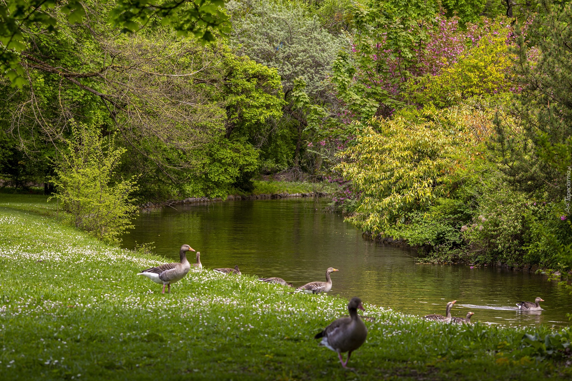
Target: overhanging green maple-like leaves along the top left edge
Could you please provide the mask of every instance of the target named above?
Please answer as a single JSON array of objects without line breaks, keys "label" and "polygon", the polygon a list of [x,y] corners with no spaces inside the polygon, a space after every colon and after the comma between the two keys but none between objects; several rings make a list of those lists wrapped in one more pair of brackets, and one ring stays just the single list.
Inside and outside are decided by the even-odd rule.
[{"label": "overhanging green maple-like leaves along the top left edge", "polygon": [[[0,3],[0,70],[13,85],[27,82],[24,66],[34,61],[27,51],[33,46],[35,34],[61,33],[62,21],[81,23],[88,21],[93,8],[102,2],[77,0],[6,0]],[[112,3],[106,21],[122,27],[122,31],[136,31],[152,19],[160,19],[180,34],[192,33],[204,41],[214,39],[212,30],[228,31],[223,0],[120,0]],[[57,50],[57,46],[52,46]],[[34,65],[34,64],[33,64]],[[77,77],[76,77],[77,78]]]}]

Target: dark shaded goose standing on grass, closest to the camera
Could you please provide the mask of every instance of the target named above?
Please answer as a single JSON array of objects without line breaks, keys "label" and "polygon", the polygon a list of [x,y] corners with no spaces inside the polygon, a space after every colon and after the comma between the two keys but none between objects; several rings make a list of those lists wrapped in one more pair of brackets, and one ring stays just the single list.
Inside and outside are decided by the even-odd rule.
[{"label": "dark shaded goose standing on grass, closest to the camera", "polygon": [[[315,339],[322,339],[320,346],[337,352],[341,366],[347,366],[349,356],[366,341],[366,324],[358,315],[358,308],[365,311],[360,298],[352,298],[348,303],[349,318],[340,318],[325,327],[323,331],[314,336]],[[343,352],[348,352],[348,358],[341,357]]]}]

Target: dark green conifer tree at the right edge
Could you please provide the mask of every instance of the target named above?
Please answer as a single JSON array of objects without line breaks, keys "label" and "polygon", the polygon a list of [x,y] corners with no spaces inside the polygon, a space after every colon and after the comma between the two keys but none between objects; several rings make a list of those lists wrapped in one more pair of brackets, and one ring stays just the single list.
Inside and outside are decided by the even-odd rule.
[{"label": "dark green conifer tree at the right edge", "polygon": [[496,145],[499,168],[517,189],[565,194],[565,171],[572,147],[572,8],[543,3],[526,34],[517,25],[514,105],[519,129],[499,119]]}]

